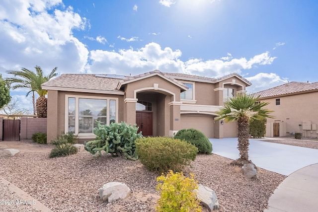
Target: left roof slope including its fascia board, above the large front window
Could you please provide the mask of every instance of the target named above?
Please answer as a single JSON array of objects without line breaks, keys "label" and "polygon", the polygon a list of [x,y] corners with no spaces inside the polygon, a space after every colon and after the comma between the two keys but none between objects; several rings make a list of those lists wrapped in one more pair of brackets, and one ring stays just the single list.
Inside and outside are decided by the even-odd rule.
[{"label": "left roof slope including its fascia board, above the large front window", "polygon": [[42,84],[43,89],[94,92],[107,94],[124,94],[116,89],[118,78],[100,77],[95,74],[62,74]]}]

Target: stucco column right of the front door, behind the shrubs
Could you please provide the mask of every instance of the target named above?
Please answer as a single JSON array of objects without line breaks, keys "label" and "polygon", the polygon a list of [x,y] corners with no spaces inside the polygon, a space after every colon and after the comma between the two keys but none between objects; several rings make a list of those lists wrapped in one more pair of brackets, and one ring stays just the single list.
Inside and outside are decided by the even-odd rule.
[{"label": "stucco column right of the front door, behind the shrubs", "polygon": [[181,130],[181,118],[180,118],[180,105],[181,102],[169,102],[170,107],[170,130],[169,136],[173,137],[174,133],[177,133]]}]

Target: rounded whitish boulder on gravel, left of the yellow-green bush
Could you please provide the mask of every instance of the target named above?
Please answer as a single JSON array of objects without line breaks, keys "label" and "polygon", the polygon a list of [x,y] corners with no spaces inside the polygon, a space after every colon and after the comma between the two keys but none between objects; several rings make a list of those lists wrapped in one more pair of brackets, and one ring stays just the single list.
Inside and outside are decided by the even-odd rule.
[{"label": "rounded whitish boulder on gravel, left of the yellow-green bush", "polygon": [[112,203],[118,199],[125,199],[130,195],[130,189],[125,183],[110,182],[99,188],[99,197],[108,203]]}]

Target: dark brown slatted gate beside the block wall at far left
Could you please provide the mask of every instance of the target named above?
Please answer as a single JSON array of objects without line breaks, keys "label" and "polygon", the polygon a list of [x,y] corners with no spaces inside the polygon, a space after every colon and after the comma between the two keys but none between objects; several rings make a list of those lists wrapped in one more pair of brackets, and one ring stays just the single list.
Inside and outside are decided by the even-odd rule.
[{"label": "dark brown slatted gate beside the block wall at far left", "polygon": [[3,119],[3,141],[20,141],[20,121]]}]

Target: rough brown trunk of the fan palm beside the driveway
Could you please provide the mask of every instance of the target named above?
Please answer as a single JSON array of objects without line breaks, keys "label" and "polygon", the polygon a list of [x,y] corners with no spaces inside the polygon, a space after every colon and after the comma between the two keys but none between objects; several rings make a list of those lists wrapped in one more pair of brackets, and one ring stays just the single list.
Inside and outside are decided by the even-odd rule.
[{"label": "rough brown trunk of the fan palm beside the driveway", "polygon": [[240,159],[248,161],[248,146],[249,146],[249,133],[248,133],[248,118],[242,117],[238,120],[238,149]]}]

